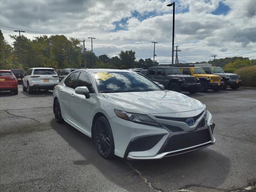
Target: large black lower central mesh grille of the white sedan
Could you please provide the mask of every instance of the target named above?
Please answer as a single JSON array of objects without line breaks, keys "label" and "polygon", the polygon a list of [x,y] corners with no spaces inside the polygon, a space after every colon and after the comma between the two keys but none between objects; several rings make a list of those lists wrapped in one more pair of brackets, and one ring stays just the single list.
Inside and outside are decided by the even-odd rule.
[{"label": "large black lower central mesh grille of the white sedan", "polygon": [[211,140],[210,132],[208,129],[179,134],[172,136],[166,146],[160,152],[171,152],[175,150],[180,150],[199,144],[209,142]]}]

